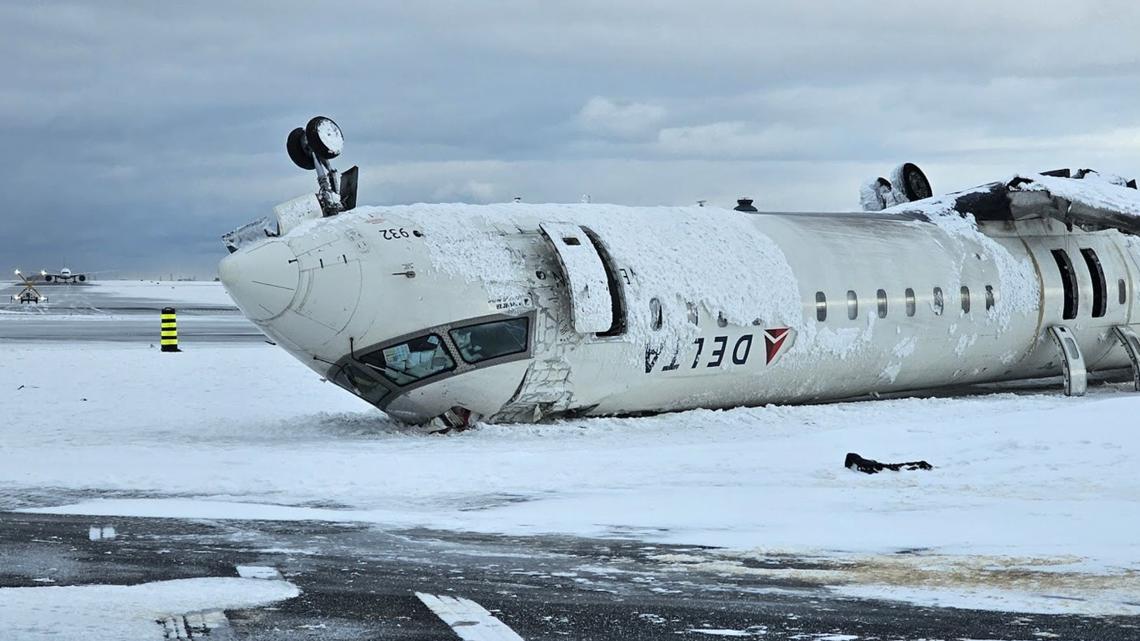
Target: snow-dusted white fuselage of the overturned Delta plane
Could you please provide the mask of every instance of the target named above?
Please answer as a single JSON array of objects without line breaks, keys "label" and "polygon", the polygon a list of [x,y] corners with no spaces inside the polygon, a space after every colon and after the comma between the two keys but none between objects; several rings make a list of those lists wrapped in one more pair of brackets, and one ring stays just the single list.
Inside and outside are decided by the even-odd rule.
[{"label": "snow-dusted white fuselage of the overturned Delta plane", "polygon": [[[795,403],[1058,374],[1045,334],[1065,308],[1053,250],[1076,266],[1077,315],[1064,322],[1088,366],[1127,366],[1112,335],[1135,305],[1137,263],[1122,234],[928,218],[358,208],[243,245],[220,274],[285,349],[410,422],[449,411],[534,421]],[[1098,257],[1107,289],[1082,250]]]}]

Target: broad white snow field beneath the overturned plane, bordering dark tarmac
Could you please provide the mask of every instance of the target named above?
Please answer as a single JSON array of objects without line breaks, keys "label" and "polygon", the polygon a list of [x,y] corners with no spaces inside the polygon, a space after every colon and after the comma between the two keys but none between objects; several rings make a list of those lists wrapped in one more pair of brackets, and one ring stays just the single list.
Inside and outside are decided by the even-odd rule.
[{"label": "broad white snow field beneath the overturned plane, bordering dark tarmac", "polygon": [[[779,571],[852,595],[1140,614],[1140,396],[1125,386],[450,436],[266,344],[8,344],[0,390],[6,508],[641,537],[724,547],[660,559],[677,571],[759,576],[749,559],[789,553],[839,565]],[[847,452],[935,469],[864,476]],[[59,505],[91,489],[120,497]]]}]

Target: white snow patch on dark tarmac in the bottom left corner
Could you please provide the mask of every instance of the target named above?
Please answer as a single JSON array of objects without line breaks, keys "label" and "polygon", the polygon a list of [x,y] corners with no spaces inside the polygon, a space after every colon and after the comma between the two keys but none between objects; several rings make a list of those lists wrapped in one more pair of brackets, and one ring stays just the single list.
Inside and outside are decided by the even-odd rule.
[{"label": "white snow patch on dark tarmac in the bottom left corner", "polygon": [[0,639],[158,639],[155,622],[165,617],[258,608],[300,593],[285,581],[246,578],[0,587]]}]

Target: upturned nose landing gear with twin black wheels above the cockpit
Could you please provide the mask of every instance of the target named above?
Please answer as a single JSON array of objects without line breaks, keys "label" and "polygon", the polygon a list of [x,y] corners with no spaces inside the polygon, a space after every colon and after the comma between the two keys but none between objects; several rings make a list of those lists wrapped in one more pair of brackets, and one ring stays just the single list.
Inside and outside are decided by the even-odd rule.
[{"label": "upturned nose landing gear with twin black wheels above the cockpit", "polygon": [[359,168],[352,167],[339,176],[329,161],[344,151],[344,135],[333,119],[318,115],[290,132],[285,140],[293,164],[306,171],[317,171],[317,201],[327,218],[356,206]]}]

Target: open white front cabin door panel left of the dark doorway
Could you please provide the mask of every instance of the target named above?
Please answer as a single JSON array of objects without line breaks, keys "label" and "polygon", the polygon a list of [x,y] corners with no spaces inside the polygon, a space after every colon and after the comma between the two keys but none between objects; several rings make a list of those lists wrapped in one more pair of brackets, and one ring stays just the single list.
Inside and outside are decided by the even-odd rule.
[{"label": "open white front cabin door panel left of the dark doorway", "polygon": [[614,325],[613,297],[618,294],[610,290],[605,262],[589,234],[570,222],[544,222],[539,228],[565,276],[575,331],[608,332]]}]

